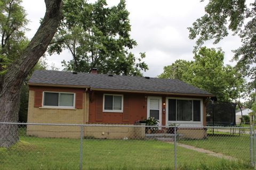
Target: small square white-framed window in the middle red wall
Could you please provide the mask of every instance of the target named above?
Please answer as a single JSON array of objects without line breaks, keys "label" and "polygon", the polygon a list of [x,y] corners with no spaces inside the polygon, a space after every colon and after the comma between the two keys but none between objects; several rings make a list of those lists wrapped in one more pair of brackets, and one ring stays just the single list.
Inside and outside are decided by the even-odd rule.
[{"label": "small square white-framed window in the middle red wall", "polygon": [[123,112],[123,95],[104,94],[103,112]]}]

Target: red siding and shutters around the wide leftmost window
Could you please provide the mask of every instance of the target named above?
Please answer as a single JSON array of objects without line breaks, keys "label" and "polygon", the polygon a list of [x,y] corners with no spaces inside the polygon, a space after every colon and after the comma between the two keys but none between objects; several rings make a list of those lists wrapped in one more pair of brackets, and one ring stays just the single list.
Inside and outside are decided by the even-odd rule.
[{"label": "red siding and shutters around the wide leftmost window", "polygon": [[34,107],[42,107],[43,91],[55,91],[55,92],[74,92],[76,94],[75,107],[77,109],[83,108],[83,94],[85,89],[76,88],[59,88],[59,87],[43,87],[43,86],[29,86],[29,90],[35,91],[35,104]]}]

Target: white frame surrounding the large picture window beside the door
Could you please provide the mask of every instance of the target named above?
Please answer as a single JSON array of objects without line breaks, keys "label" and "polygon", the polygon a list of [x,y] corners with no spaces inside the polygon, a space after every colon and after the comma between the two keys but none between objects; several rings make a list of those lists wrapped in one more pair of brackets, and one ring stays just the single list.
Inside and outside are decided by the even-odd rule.
[{"label": "white frame surrounding the large picture window beside the door", "polygon": [[[200,100],[200,120],[201,121],[169,121],[169,99],[177,99],[177,100]],[[201,98],[179,98],[179,97],[166,97],[166,123],[171,124],[171,123],[176,123],[176,124],[181,124],[182,126],[186,126],[186,125],[203,125],[203,99]],[[177,103],[176,103],[176,109],[177,109]],[[193,109],[193,107],[192,107]],[[176,111],[177,112],[177,111]],[[192,118],[193,118],[193,112],[192,112]]]}]

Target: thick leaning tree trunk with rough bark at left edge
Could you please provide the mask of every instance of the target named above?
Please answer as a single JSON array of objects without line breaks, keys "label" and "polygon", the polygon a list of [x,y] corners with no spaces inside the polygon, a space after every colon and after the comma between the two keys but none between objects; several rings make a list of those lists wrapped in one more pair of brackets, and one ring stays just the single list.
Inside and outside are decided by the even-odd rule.
[{"label": "thick leaning tree trunk with rough bark at left edge", "polygon": [[[23,80],[45,53],[62,19],[61,0],[45,0],[46,12],[35,36],[21,57],[0,77],[0,122],[18,122],[20,89]],[[0,147],[18,141],[18,126],[0,124]]]}]

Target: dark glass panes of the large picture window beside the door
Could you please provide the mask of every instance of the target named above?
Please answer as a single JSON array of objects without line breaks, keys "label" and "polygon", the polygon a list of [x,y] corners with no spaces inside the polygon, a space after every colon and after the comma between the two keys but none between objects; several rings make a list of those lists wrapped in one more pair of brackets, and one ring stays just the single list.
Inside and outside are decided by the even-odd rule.
[{"label": "dark glass panes of the large picture window beside the door", "polygon": [[168,121],[201,121],[201,100],[168,99]]}]

